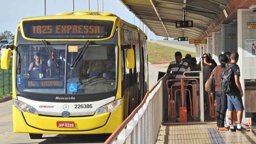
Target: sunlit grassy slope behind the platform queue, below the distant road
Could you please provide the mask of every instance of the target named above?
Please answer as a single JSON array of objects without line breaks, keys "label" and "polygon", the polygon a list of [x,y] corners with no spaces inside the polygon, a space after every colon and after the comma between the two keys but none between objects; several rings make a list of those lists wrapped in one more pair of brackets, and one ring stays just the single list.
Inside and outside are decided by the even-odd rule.
[{"label": "sunlit grassy slope behind the platform queue, below the distant road", "polygon": [[191,54],[192,57],[196,57],[196,53],[159,45],[148,41],[148,62],[152,64],[157,63],[170,63],[175,60],[175,52],[180,51],[183,58],[186,54]]}]

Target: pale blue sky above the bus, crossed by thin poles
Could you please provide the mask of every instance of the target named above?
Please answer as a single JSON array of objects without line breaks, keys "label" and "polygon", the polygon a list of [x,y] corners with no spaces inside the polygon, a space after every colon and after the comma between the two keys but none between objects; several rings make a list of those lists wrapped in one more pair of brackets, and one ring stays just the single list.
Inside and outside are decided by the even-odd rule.
[{"label": "pale blue sky above the bus, crossed by thin poles", "polygon": [[[74,0],[75,11],[87,11],[88,0]],[[102,0],[99,1],[99,11],[102,11]],[[5,30],[15,34],[16,27],[22,18],[37,17],[44,15],[44,0],[5,0],[1,1],[1,25],[0,32]],[[71,12],[72,0],[46,0],[46,15]],[[90,0],[90,11],[97,11],[97,0]],[[119,0],[103,0],[103,12],[116,14],[118,17],[133,24],[134,15]],[[138,26],[138,19],[135,17],[135,25]],[[144,26],[145,32],[145,26]],[[150,31],[149,31],[150,33]],[[149,35],[148,33],[148,35]],[[162,39],[155,34],[148,36],[148,39]]]}]

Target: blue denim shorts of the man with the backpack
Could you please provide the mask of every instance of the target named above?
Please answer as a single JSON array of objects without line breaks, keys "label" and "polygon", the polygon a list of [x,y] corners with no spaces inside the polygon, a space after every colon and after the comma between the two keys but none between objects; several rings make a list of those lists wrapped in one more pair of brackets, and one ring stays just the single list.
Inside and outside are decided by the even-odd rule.
[{"label": "blue denim shorts of the man with the backpack", "polygon": [[230,96],[228,94],[227,96],[228,96],[228,111],[233,111],[234,108],[236,109],[236,112],[244,110],[244,105],[243,105],[241,96]]}]

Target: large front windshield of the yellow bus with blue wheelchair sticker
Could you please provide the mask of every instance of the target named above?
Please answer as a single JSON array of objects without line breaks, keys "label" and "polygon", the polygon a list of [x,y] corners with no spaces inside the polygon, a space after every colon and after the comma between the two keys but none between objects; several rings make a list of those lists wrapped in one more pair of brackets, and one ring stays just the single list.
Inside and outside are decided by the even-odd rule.
[{"label": "large front windshield of the yellow bus with blue wheelchair sticker", "polygon": [[16,86],[20,92],[89,94],[116,88],[116,45],[89,45],[73,67],[83,45],[48,47],[50,53],[44,45],[18,46]]}]

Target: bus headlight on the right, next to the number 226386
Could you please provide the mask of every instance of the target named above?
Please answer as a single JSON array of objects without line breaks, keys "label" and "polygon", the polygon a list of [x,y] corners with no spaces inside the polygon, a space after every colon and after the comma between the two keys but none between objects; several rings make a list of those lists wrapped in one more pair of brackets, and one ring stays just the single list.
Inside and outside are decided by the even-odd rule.
[{"label": "bus headlight on the right, next to the number 226386", "polygon": [[95,112],[95,115],[105,113],[105,112],[113,112],[120,105],[121,99],[115,100],[111,103],[105,104],[98,108]]}]

